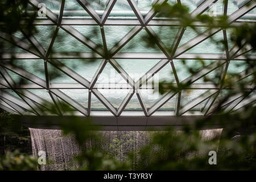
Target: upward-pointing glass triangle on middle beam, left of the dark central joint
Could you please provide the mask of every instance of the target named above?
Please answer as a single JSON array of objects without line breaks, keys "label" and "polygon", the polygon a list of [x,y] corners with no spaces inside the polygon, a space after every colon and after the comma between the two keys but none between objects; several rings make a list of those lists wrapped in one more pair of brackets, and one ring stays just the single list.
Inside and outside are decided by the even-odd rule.
[{"label": "upward-pointing glass triangle on middle beam, left of the dark central joint", "polygon": [[60,28],[55,42],[52,46],[53,52],[92,52],[92,49],[86,47],[72,35]]}]

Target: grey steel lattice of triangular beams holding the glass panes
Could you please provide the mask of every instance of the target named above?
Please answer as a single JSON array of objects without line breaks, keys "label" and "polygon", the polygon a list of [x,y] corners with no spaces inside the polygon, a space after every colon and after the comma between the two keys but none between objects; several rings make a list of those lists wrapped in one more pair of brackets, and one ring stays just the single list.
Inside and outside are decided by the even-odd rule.
[{"label": "grey steel lattice of triangular beams holding the glass panes", "polygon": [[[63,100],[67,102],[69,105],[74,107],[77,111],[76,114],[78,115],[94,115],[94,116],[110,116],[112,115],[113,118],[115,117],[123,117],[126,115],[129,115],[129,117],[133,115],[137,115],[134,118],[140,118],[144,122],[144,117],[148,118],[154,118],[157,117],[163,117],[164,119],[167,118],[167,115],[208,115],[213,114],[214,107],[217,105],[214,104],[214,101],[218,97],[218,94],[221,92],[222,89],[233,89],[228,88],[226,85],[220,84],[219,86],[213,85],[213,84],[196,84],[195,81],[199,80],[201,77],[207,75],[209,72],[212,72],[214,69],[217,69],[219,67],[222,67],[222,80],[225,79],[226,71],[229,66],[229,62],[236,61],[236,60],[246,60],[247,57],[250,57],[252,60],[256,60],[256,55],[247,55],[247,57],[244,56],[246,52],[242,52],[240,49],[238,49],[236,46],[234,46],[232,49],[229,50],[228,46],[225,46],[226,53],[225,54],[212,54],[212,53],[186,53],[189,49],[192,47],[195,47],[197,44],[203,42],[204,40],[207,40],[210,36],[216,34],[219,31],[223,32],[224,39],[226,38],[226,31],[222,30],[221,28],[214,28],[212,31],[205,31],[202,34],[196,36],[195,38],[189,40],[187,43],[183,44],[182,46],[179,46],[180,40],[184,34],[185,27],[181,27],[180,30],[177,32],[176,39],[173,43],[172,48],[174,49],[174,53],[170,54],[166,47],[164,47],[164,44],[161,42],[160,39],[158,39],[158,42],[156,43],[157,46],[162,50],[162,53],[123,53],[118,52],[123,46],[125,46],[135,35],[138,34],[139,31],[141,31],[143,28],[147,31],[149,35],[156,35],[155,32],[152,30],[150,26],[179,26],[180,23],[178,20],[167,20],[167,19],[153,19],[155,16],[154,9],[151,9],[148,11],[146,15],[142,15],[139,11],[137,4],[134,2],[134,0],[127,0],[129,3],[131,9],[134,11],[134,14],[137,16],[137,19],[112,19],[109,18],[110,11],[112,11],[113,6],[115,5],[116,0],[110,0],[108,5],[106,6],[106,9],[104,11],[104,14],[102,16],[98,15],[96,11],[93,10],[93,8],[89,5],[88,2],[84,0],[77,0],[77,2],[84,8],[84,10],[92,17],[92,18],[86,18],[86,19],[69,19],[69,18],[63,18],[63,11],[64,11],[64,0],[60,0],[60,12],[59,16],[55,15],[51,10],[46,10],[47,19],[38,19],[34,22],[35,25],[56,25],[56,30],[52,36],[51,42],[47,49],[44,49],[38,40],[34,36],[27,36],[26,31],[23,31],[22,33],[27,38],[27,40],[30,42],[24,42],[23,40],[20,40],[14,36],[7,35],[3,32],[0,32],[0,37],[2,39],[5,39],[7,41],[10,41],[11,39],[14,40],[14,43],[19,48],[22,48],[27,51],[27,53],[15,53],[15,59],[43,59],[44,60],[44,71],[46,75],[46,80],[42,80],[41,78],[32,75],[31,73],[24,71],[24,69],[21,69],[19,67],[15,67],[14,65],[8,64],[8,61],[12,59],[13,54],[4,53],[1,57],[1,63],[0,63],[0,72],[3,78],[0,79],[0,107],[10,113],[13,114],[21,114],[21,115],[42,115],[46,114],[43,113],[42,109],[39,109],[38,104],[43,105],[43,107],[50,107],[48,101],[46,101],[44,98],[41,98],[39,96],[36,96],[36,94],[29,92],[27,89],[46,89],[49,96],[52,99],[52,102],[55,104],[57,108],[57,114],[60,116],[65,115],[66,113],[61,108],[60,100]],[[164,3],[167,1],[159,0],[155,3]],[[178,1],[180,3],[180,1]],[[217,1],[214,0],[205,0],[203,3],[201,3],[194,11],[192,11],[191,16],[195,17],[196,15],[204,13],[208,8],[209,5],[212,3],[216,3]],[[182,3],[182,2],[181,2]],[[39,2],[37,0],[30,0],[30,4],[36,8],[38,8]],[[255,1],[249,1],[246,6],[243,5],[235,11],[233,14],[228,16],[228,21],[230,24],[234,26],[240,26],[243,22],[236,22],[237,19],[241,18],[241,16],[248,13],[250,10],[253,10],[256,6]],[[226,13],[227,5],[224,5],[224,13]],[[102,35],[102,42],[104,45],[104,49],[98,48],[96,43],[94,43],[92,40],[86,38],[84,35],[82,35],[79,31],[77,31],[75,28],[73,28],[71,25],[98,25],[101,28],[101,35]],[[106,25],[115,25],[115,26],[123,26],[123,25],[133,25],[134,27],[128,32],[112,49],[108,49],[106,47],[106,39],[105,39],[105,32],[104,32],[104,26]],[[202,23],[195,23],[196,26],[204,26]],[[63,29],[65,32],[68,32],[68,34],[72,35],[74,38],[79,40],[82,44],[92,49],[92,53],[80,53],[79,56],[77,56],[76,53],[49,53],[51,50],[53,43],[55,42],[55,38],[57,36],[57,33],[59,29]],[[31,47],[32,46],[32,47]],[[247,48],[247,52],[250,51],[251,48]],[[200,57],[200,58],[199,58]],[[66,67],[64,64],[62,64],[59,59],[102,59],[102,63],[98,67],[98,70],[96,71],[95,75],[92,78],[92,81],[86,80],[84,77],[80,76],[78,73],[73,71],[72,69]],[[159,63],[157,63],[153,68],[150,69],[150,71],[147,72],[147,75],[150,75],[150,77],[153,77],[156,73],[158,73],[165,65],[171,64],[172,71],[175,76],[176,80],[176,86],[179,86],[180,83],[186,83],[188,81],[192,81],[192,84],[188,88],[184,89],[205,89],[205,93],[201,94],[201,96],[193,99],[188,104],[181,107],[181,100],[183,99],[181,97],[182,90],[179,90],[177,92],[170,91],[160,100],[158,100],[153,106],[150,108],[147,108],[144,104],[143,98],[140,93],[140,89],[143,89],[141,87],[141,84],[139,82],[135,82],[133,78],[131,78],[118,63],[115,61],[115,59],[159,59]],[[175,65],[172,60],[175,59],[207,59],[207,60],[216,60],[212,64],[209,64],[207,67],[202,68],[199,72],[197,72],[195,75],[186,78],[185,80],[180,80],[179,77],[176,74]],[[105,89],[116,89],[116,88],[126,88],[130,89],[131,92],[127,94],[125,99],[122,101],[122,104],[119,108],[115,108],[110,101],[108,101],[97,89],[97,78],[104,70],[106,63],[109,62],[114,69],[127,81],[127,84],[115,84],[115,87],[109,86],[109,88]],[[49,79],[49,64],[52,64],[56,68],[60,69],[65,75],[68,75],[69,77],[73,78],[77,84],[55,84],[51,83],[51,80]],[[6,71],[6,69],[9,69],[10,71],[22,76],[23,78],[26,78],[27,80],[30,80],[33,82],[32,84],[24,84],[24,85],[15,85],[15,82],[9,75],[9,73]],[[242,78],[245,78],[247,76],[250,76],[254,70],[251,70],[249,72],[241,72],[240,75]],[[145,76],[142,76],[139,81],[146,81],[144,78]],[[149,79],[149,78],[148,78]],[[254,85],[247,85],[244,89],[251,90],[250,92],[253,92]],[[14,97],[12,94],[9,94],[5,92],[5,89],[12,89],[22,100],[20,100],[17,97]],[[67,96],[67,94],[60,91],[60,89],[88,89],[88,107],[84,107],[81,104],[79,104],[77,101],[73,100],[71,97]],[[106,108],[109,111],[101,111],[101,112],[91,112],[90,110],[90,101],[92,94],[98,98],[106,106]],[[123,111],[129,101],[131,100],[131,97],[136,94],[138,97],[139,104],[141,104],[143,112],[138,111]],[[166,104],[167,101],[169,101],[172,97],[176,97],[176,108],[174,112],[158,112],[158,109],[162,107],[164,104]],[[204,106],[203,111],[197,111],[195,113],[190,113],[189,110],[193,109],[193,107],[199,105],[201,102],[206,101],[206,104]],[[228,110],[230,113],[233,111],[236,111],[238,109],[241,109],[243,106],[246,106],[251,103],[255,103],[255,94],[253,94],[252,97],[247,96],[234,96],[230,98],[229,101],[226,101],[223,106],[226,106],[226,110]]]}]

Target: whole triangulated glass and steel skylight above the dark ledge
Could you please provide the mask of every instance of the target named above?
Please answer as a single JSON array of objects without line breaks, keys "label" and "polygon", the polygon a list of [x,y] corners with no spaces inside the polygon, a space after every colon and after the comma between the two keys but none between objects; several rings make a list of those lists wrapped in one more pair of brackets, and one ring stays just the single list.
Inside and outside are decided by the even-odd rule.
[{"label": "whole triangulated glass and steel skylight above the dark ledge", "polygon": [[[176,3],[31,0],[31,11],[32,7],[40,11],[46,6],[34,22],[36,34],[27,37],[26,32],[17,32],[13,35],[16,46],[11,49],[10,35],[0,32],[0,41],[5,44],[0,66],[0,107],[14,114],[42,115],[47,112],[38,106],[47,110],[54,104],[57,114],[65,115],[61,106],[64,101],[72,106],[73,113],[85,116],[210,114],[218,98],[225,95],[225,88],[220,92],[220,88],[203,78],[213,79],[213,73],[221,72],[227,63],[226,72],[243,76],[245,68],[237,68],[236,64],[246,60],[245,53],[255,60],[255,52],[250,48],[247,52],[236,51],[229,59],[227,52],[236,49],[229,30],[216,28],[209,32],[201,23],[196,24],[198,32],[180,27],[179,20],[156,15],[152,5],[163,2]],[[188,6],[191,16],[225,12],[229,23],[236,26],[256,20],[255,1],[229,0],[226,6],[222,0],[177,2]],[[148,35],[158,37],[154,48],[143,39]],[[228,48],[214,44],[211,37],[218,41],[226,38]],[[170,55],[167,50],[173,47],[175,52]],[[204,67],[199,64],[199,57]],[[191,76],[181,60],[198,72]],[[163,95],[158,92],[161,81],[179,85],[191,78],[189,88]],[[15,85],[20,79],[24,79],[22,84]],[[253,93],[250,96],[250,100],[255,100]],[[227,104],[240,98],[237,96]],[[238,110],[247,102],[245,99],[230,108]]]}]

